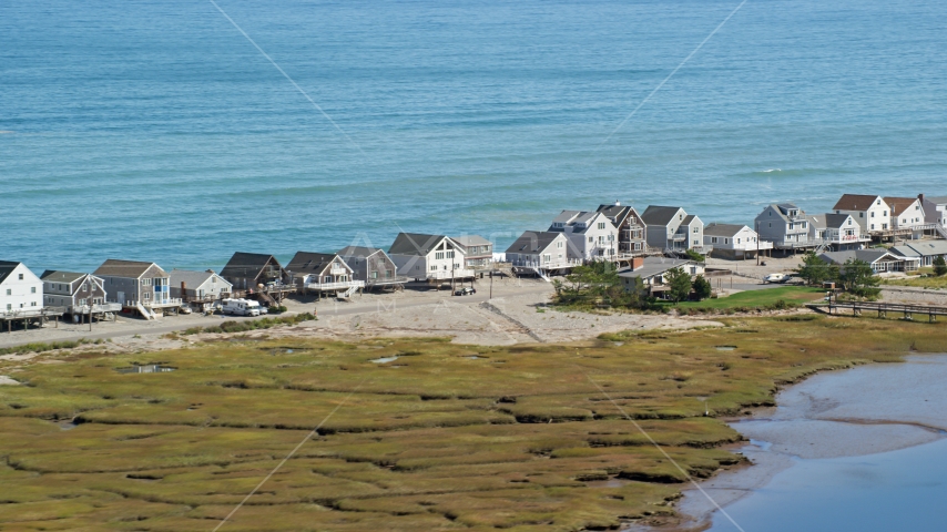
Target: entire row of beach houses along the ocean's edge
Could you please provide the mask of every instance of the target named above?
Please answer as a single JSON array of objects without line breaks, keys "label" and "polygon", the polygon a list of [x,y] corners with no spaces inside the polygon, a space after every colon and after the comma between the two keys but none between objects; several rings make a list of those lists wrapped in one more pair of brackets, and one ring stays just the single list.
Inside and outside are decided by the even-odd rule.
[{"label": "entire row of beach houses along the ocean's edge", "polygon": [[[95,272],[47,270],[0,262],[0,319],[133,313],[154,319],[177,309],[208,310],[228,297],[277,304],[289,293],[394,290],[409,282],[454,283],[495,272],[548,276],[610,260],[630,282],[660,285],[671,267],[694,275],[703,266],[688,250],[746,259],[815,250],[827,260],[867,258],[876,270],[912,270],[947,256],[947,196],[883,197],[845,194],[832,212],[808,214],[793,203],[767,205],[752,225],[704,224],[680,206],[639,213],[620,202],[595,211],[562,211],[548,228],[527,231],[502,255],[480,236],[400,233],[385,250],[348,246],[335,253],[298,252],[284,266],[269,254],[236,253],[224,268],[166,272],[156,263],[108,259]],[[930,238],[925,238],[930,237]],[[938,239],[939,238],[939,239]],[[887,249],[872,242],[903,241]],[[91,318],[90,318],[91,319]]]}]

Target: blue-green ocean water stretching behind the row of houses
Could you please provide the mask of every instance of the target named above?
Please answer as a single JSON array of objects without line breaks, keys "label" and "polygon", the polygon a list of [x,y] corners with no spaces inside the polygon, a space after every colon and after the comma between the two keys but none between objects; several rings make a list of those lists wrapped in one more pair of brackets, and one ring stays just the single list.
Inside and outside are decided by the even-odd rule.
[{"label": "blue-green ocean water stretching behind the row of houses", "polygon": [[[562,208],[947,194],[947,2],[0,2],[0,258],[222,267]],[[335,125],[334,125],[335,124]],[[611,136],[610,136],[611,135]]]}]

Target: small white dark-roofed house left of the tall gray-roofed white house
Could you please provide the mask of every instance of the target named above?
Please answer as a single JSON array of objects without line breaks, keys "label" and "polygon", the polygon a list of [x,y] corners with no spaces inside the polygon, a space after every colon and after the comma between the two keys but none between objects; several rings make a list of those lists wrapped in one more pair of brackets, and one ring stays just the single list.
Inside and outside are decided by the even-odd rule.
[{"label": "small white dark-roofed house left of the tall gray-roofed white house", "polygon": [[554,231],[527,231],[507,248],[507,260],[513,273],[547,274],[564,273],[582,264],[578,254],[569,254],[569,238]]}]

